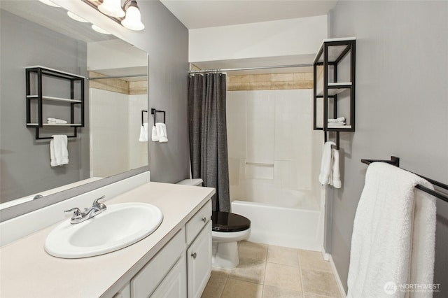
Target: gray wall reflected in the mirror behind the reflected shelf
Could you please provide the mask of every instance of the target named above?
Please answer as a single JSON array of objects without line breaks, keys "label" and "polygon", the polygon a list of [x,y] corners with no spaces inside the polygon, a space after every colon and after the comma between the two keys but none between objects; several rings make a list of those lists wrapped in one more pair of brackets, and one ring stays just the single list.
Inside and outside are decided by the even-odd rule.
[{"label": "gray wall reflected in the mirror behind the reflected shelf", "polygon": [[[50,140],[36,141],[35,129],[25,125],[25,66],[42,65],[85,76],[86,44],[4,10],[0,21],[3,202],[88,178],[90,169],[88,134],[81,132],[77,138],[69,139],[69,164],[51,167]],[[88,92],[86,100],[87,95]],[[85,115],[88,122],[88,110]],[[87,132],[87,127],[81,131]],[[73,134],[73,130],[52,133]]]}]

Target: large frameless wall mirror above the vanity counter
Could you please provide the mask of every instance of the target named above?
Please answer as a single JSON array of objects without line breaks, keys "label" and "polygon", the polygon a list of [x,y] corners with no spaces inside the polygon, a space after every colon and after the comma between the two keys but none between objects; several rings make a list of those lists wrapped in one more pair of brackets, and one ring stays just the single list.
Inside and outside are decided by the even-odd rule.
[{"label": "large frameless wall mirror above the vanity counter", "polygon": [[[2,0],[0,8],[1,220],[66,199],[67,188],[99,187],[147,171],[148,143],[141,139],[148,119],[147,53],[41,1]],[[63,166],[50,166],[50,140],[36,140],[35,129],[26,127],[25,67],[36,65],[90,78],[85,126],[69,138]],[[61,118],[57,111],[48,108],[44,120]]]}]

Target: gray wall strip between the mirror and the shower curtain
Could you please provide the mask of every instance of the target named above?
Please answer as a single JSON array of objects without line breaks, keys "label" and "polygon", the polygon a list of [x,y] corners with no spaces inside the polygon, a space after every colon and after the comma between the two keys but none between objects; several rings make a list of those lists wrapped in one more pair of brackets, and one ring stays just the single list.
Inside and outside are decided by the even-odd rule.
[{"label": "gray wall strip between the mirror and the shower curtain", "polygon": [[151,180],[176,183],[190,176],[188,29],[160,1],[139,1],[139,7],[144,31],[118,36],[148,52],[148,108],[166,112],[168,143],[148,141]]}]

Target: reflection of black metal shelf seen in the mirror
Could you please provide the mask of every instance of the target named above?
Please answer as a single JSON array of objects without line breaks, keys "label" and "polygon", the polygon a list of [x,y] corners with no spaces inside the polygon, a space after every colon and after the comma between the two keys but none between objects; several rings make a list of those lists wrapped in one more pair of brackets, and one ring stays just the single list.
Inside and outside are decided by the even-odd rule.
[{"label": "reflection of black metal shelf seen in the mirror", "polygon": [[[52,139],[51,136],[41,136],[40,129],[43,127],[73,127],[73,135],[68,136],[74,138],[78,134],[78,127],[84,127],[84,81],[85,77],[78,76],[73,73],[57,71],[43,66],[29,66],[26,71],[26,87],[27,87],[27,127],[36,129],[36,139]],[[68,80],[69,90],[66,90],[67,97],[52,97],[43,94],[43,86],[45,77]],[[34,86],[31,91],[31,85]],[[48,89],[48,88],[47,88]],[[35,94],[37,93],[37,94]],[[75,98],[77,97],[77,98]],[[69,104],[70,121],[66,124],[49,124],[43,122],[44,106],[50,106],[52,101],[60,104]],[[36,111],[31,112],[31,105],[36,103]],[[78,106],[80,112],[78,117],[75,115],[75,108]],[[75,118],[78,118],[75,120]]]}]

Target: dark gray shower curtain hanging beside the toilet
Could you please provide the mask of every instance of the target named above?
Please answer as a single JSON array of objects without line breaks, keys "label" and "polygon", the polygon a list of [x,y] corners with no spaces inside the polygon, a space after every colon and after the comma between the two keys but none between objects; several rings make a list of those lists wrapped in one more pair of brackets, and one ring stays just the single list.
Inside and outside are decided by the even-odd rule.
[{"label": "dark gray shower curtain hanging beside the toilet", "polygon": [[193,178],[215,187],[214,211],[230,212],[225,74],[196,74],[188,78],[188,131]]}]

